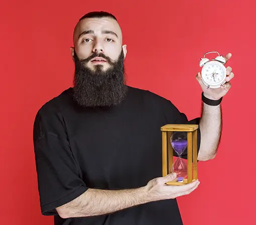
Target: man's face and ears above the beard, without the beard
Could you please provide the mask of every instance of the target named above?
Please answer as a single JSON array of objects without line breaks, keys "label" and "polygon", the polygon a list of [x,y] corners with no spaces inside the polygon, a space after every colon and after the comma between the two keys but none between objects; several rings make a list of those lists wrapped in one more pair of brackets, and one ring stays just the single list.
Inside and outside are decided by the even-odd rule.
[{"label": "man's face and ears above the beard, without the beard", "polygon": [[[118,60],[123,50],[126,56],[126,46],[122,46],[122,34],[118,23],[111,18],[86,18],[78,23],[74,31],[74,51],[80,60],[86,59],[86,65],[94,71],[96,67],[106,71],[111,67],[111,62]],[[106,56],[97,57],[98,54]]]}]

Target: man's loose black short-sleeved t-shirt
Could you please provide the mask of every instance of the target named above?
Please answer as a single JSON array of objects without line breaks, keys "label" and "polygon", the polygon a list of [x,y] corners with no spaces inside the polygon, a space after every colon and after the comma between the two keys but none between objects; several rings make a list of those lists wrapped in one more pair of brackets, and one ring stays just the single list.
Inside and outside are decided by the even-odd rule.
[{"label": "man's loose black short-sleeved t-shirt", "polygon": [[[171,101],[150,91],[129,87],[117,106],[83,108],[73,101],[72,90],[47,102],[35,119],[42,214],[54,215],[55,225],[181,225],[176,199],[99,216],[63,219],[58,215],[56,207],[88,188],[137,188],[161,177],[161,127],[199,123],[199,118],[188,121]],[[200,129],[197,133],[199,149]]]}]

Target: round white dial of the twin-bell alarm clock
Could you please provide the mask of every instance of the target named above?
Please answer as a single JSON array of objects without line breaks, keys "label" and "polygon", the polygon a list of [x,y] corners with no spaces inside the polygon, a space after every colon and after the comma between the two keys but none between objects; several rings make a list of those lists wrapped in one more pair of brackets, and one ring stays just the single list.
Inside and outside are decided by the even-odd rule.
[{"label": "round white dial of the twin-bell alarm clock", "polygon": [[223,64],[211,61],[207,63],[202,69],[202,79],[208,85],[219,85],[226,77],[226,69]]}]

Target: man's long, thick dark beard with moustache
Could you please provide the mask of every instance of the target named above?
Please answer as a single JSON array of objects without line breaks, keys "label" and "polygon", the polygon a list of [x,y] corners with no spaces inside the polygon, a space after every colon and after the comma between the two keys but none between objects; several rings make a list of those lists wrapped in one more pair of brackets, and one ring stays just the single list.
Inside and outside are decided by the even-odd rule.
[{"label": "man's long, thick dark beard with moustache", "polygon": [[[94,53],[84,60],[79,60],[74,53],[73,99],[79,106],[109,107],[122,102],[127,93],[123,56],[123,51],[121,51],[118,59],[113,62],[102,53]],[[94,70],[91,70],[87,63],[94,57],[104,58],[110,67],[103,71],[103,65],[95,65]]]}]

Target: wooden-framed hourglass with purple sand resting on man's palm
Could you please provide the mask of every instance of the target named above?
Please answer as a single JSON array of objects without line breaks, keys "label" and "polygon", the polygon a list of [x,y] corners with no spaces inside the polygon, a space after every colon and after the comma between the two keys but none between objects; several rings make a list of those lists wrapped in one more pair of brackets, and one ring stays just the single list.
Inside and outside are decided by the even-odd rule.
[{"label": "wooden-framed hourglass with purple sand resting on man's palm", "polygon": [[[161,127],[163,176],[176,172],[169,185],[184,185],[197,179],[197,129],[195,124],[167,124]],[[187,164],[182,158],[187,150]],[[174,151],[177,159],[173,163]]]}]

